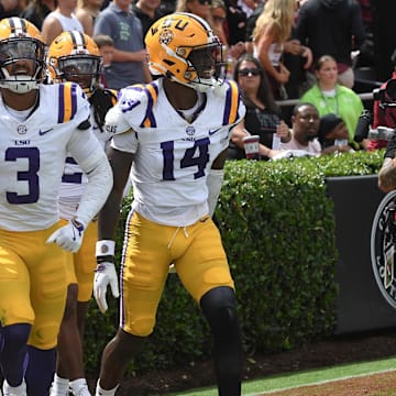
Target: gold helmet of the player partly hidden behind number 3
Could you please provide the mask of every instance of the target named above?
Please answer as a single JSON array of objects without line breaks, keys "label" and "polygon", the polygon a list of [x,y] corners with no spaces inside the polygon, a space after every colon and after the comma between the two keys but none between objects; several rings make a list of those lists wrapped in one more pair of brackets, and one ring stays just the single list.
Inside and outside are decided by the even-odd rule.
[{"label": "gold helmet of the player partly hidden behind number 3", "polygon": [[99,48],[85,33],[63,32],[50,45],[47,67],[52,79],[78,82],[88,97],[98,87],[100,66]]}]

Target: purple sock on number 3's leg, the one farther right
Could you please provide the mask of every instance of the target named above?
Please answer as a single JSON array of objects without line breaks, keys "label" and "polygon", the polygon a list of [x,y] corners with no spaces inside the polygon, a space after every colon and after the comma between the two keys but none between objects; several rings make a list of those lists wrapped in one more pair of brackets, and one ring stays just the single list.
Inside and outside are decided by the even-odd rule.
[{"label": "purple sock on number 3's leg, the one farther right", "polygon": [[55,348],[40,350],[29,345],[28,354],[29,365],[25,374],[28,395],[47,396],[55,374]]}]

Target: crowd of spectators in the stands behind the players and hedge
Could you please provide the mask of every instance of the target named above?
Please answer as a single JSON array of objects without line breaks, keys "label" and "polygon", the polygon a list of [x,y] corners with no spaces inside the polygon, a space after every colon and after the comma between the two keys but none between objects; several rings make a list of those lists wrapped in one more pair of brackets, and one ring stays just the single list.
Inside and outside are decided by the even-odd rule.
[{"label": "crowd of spectators in the stands behind the players and hedge", "polygon": [[[320,124],[324,116],[334,116],[340,121],[336,127],[344,125],[345,136],[334,142],[346,144],[338,144],[337,151],[374,150],[386,144],[370,139],[356,142],[354,133],[364,109],[374,114],[370,120],[373,127],[396,125],[395,110],[381,109],[381,102],[375,103],[370,95],[391,79],[395,70],[396,33],[389,26],[396,3],[380,0],[0,1],[1,18],[28,19],[42,31],[48,45],[63,31],[78,30],[91,36],[103,59],[101,85],[116,90],[152,80],[145,62],[144,36],[155,20],[174,11],[190,12],[209,22],[223,45],[223,72],[241,87],[248,114],[244,124],[234,131],[230,158],[244,157],[243,138],[252,134],[258,135],[263,144],[262,158],[276,156],[270,150],[283,150],[283,144],[294,138],[296,105],[301,103],[314,105],[318,112],[319,121],[308,120],[306,124],[307,129],[315,125],[315,139],[319,142],[324,139],[319,135],[323,133]],[[332,131],[329,133],[332,135]],[[306,148],[304,144],[302,148]]]}]

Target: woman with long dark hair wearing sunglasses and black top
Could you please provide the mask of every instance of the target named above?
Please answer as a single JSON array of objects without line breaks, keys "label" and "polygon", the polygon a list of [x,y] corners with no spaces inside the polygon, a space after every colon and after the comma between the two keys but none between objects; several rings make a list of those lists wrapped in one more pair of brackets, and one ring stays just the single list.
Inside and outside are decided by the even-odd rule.
[{"label": "woman with long dark hair wearing sunglasses and black top", "polygon": [[235,64],[233,78],[241,87],[246,114],[244,120],[232,130],[228,157],[229,160],[245,158],[243,138],[252,134],[260,136],[261,158],[271,160],[278,154],[274,145],[274,136],[286,143],[290,140],[290,132],[280,119],[280,109],[275,103],[258,59],[251,54],[242,55]]}]

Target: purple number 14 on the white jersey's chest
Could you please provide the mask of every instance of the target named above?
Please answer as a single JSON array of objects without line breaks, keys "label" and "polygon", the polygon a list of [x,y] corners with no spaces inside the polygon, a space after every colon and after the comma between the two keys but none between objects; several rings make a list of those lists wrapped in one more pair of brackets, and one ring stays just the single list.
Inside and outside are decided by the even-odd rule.
[{"label": "purple number 14 on the white jersey's chest", "polygon": [[[205,176],[205,167],[209,162],[209,138],[198,139],[194,142],[194,146],[186,150],[184,157],[180,160],[180,168],[197,166],[194,178]],[[164,156],[164,180],[176,180],[174,175],[174,141],[161,143]],[[198,155],[196,155],[198,152]]]}]

